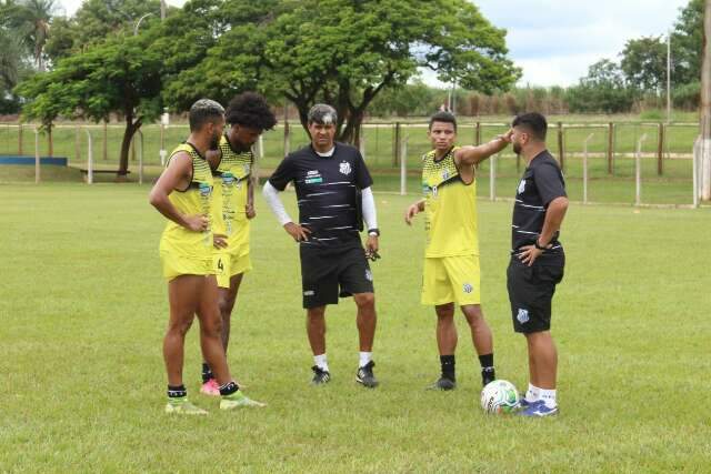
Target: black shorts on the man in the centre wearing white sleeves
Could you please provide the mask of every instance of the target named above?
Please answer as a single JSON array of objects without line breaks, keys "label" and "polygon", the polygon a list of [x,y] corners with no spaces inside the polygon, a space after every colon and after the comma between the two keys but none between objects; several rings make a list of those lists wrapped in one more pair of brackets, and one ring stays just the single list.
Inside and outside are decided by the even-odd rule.
[{"label": "black shorts on the man in the centre wearing white sleeves", "polygon": [[338,297],[373,292],[373,275],[360,242],[318,248],[300,245],[303,307],[338,304]]}]

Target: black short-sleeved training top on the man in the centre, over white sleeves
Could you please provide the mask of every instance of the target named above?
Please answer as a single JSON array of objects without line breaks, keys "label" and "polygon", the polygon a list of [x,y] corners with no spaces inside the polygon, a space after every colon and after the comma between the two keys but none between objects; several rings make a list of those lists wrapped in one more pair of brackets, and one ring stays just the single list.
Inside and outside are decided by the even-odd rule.
[{"label": "black short-sleeved training top on the man in the centre, over white sleeves", "polygon": [[[304,245],[360,244],[360,190],[373,180],[358,149],[336,143],[331,157],[320,157],[311,145],[287,155],[269,182],[283,191],[297,190],[299,223],[311,231]],[[359,222],[360,221],[360,222]]]}]

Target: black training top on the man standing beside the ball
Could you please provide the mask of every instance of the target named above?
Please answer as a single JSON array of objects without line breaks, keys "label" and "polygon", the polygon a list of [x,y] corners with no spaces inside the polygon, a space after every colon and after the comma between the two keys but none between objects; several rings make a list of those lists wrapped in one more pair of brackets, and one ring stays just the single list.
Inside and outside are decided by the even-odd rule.
[{"label": "black training top on the man standing beside the ball", "polygon": [[[565,181],[555,159],[548,152],[537,154],[523,172],[513,204],[511,225],[511,253],[523,245],[532,245],[543,230],[545,210],[555,198],[565,196]],[[555,232],[550,243],[553,246],[543,254],[563,253]]]}]

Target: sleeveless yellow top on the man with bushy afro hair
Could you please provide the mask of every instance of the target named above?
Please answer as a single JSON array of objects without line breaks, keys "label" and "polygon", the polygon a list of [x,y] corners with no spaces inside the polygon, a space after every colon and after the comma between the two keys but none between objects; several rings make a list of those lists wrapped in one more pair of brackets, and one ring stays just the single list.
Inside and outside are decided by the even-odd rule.
[{"label": "sleeveless yellow top on the man with bushy afro hair", "polygon": [[214,229],[228,236],[228,252],[242,255],[249,253],[249,219],[246,206],[254,155],[251,151],[232,150],[227,135],[222,135],[219,147],[222,159],[213,171]]}]

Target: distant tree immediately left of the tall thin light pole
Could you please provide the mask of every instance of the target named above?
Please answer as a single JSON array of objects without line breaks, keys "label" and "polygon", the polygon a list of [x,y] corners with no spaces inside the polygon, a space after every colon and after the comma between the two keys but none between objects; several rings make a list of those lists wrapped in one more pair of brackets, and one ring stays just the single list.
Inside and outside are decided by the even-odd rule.
[{"label": "distant tree immediately left of the tall thin light pole", "polygon": [[620,53],[627,82],[642,93],[658,94],[667,83],[667,44],[661,37],[629,40]]}]

